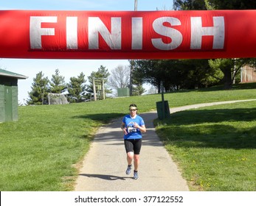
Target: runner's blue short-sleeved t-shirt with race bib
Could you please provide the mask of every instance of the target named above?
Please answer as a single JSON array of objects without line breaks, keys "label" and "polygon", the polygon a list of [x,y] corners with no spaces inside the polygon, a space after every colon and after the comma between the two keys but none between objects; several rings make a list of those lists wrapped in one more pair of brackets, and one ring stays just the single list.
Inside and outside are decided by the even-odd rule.
[{"label": "runner's blue short-sleeved t-shirt with race bib", "polygon": [[140,127],[145,125],[144,120],[141,116],[136,116],[135,118],[131,118],[130,115],[125,116],[122,119],[122,122],[125,124],[126,132],[128,132],[127,135],[124,135],[124,139],[141,139],[142,138],[142,132],[140,132],[140,129],[136,129],[134,127],[134,122],[136,124],[139,124]]}]

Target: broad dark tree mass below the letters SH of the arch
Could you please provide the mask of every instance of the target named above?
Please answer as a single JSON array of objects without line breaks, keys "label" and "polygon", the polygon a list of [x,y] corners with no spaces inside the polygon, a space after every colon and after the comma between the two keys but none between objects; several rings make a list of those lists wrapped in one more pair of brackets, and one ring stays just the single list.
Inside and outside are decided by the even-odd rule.
[{"label": "broad dark tree mass below the letters SH of the arch", "polygon": [[134,77],[165,91],[202,88],[216,85],[219,70],[210,68],[208,60],[136,60]]}]

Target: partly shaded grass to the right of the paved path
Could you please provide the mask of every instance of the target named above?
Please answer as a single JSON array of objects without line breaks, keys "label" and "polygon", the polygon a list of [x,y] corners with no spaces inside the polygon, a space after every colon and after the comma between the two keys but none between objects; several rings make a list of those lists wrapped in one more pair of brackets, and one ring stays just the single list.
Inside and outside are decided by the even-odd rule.
[{"label": "partly shaded grass to the right of the paved path", "polygon": [[173,113],[157,133],[192,191],[256,191],[256,101]]}]

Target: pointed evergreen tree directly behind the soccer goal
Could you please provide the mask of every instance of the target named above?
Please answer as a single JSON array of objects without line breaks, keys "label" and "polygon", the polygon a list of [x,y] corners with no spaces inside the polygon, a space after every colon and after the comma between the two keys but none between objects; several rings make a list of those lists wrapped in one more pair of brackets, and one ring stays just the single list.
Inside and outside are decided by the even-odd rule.
[{"label": "pointed evergreen tree directly behind the soccer goal", "polygon": [[55,74],[52,75],[49,85],[51,93],[63,93],[66,90],[65,77],[60,75],[60,71],[58,69],[56,69]]}]

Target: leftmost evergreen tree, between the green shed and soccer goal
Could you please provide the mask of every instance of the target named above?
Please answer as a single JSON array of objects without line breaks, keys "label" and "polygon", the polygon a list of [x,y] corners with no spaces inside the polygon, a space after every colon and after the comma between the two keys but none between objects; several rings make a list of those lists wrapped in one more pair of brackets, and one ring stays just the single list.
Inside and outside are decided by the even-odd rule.
[{"label": "leftmost evergreen tree, between the green shed and soccer goal", "polygon": [[33,78],[31,91],[29,92],[29,99],[27,104],[47,104],[48,102],[48,91],[49,91],[49,79],[44,77],[42,71],[36,74]]}]

